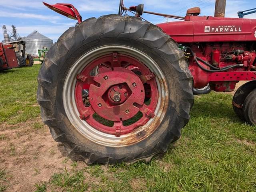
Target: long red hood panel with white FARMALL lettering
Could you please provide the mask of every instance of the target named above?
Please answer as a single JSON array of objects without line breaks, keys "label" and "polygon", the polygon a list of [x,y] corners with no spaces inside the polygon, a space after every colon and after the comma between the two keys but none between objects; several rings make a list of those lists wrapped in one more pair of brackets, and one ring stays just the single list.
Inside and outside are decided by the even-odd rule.
[{"label": "long red hood panel with white FARMALL lettering", "polygon": [[177,43],[256,41],[256,19],[186,16],[157,25]]}]

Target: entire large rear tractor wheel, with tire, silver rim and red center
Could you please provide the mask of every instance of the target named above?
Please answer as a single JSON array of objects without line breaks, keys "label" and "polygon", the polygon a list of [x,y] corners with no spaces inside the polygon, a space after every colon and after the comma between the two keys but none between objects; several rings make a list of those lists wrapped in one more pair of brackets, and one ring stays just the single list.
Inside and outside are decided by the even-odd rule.
[{"label": "entire large rear tractor wheel, with tire, silver rim and red center", "polygon": [[87,164],[150,161],[188,123],[192,75],[156,25],[118,15],[70,27],[38,75],[42,120]]}]

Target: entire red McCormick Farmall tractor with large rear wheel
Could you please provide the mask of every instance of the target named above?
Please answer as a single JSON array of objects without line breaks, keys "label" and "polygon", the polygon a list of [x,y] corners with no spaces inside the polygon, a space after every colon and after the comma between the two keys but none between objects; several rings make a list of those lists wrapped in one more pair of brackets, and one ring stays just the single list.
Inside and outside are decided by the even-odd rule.
[{"label": "entire red McCormick Farmall tractor with large rear wheel", "polygon": [[[72,159],[150,161],[180,137],[192,88],[208,84],[228,92],[248,81],[233,107],[256,125],[256,20],[198,16],[199,8],[171,16],[121,0],[119,15],[82,21],[71,4],[44,4],[78,20],[48,51],[37,96],[44,123]],[[154,25],[143,13],[183,21]]]}]

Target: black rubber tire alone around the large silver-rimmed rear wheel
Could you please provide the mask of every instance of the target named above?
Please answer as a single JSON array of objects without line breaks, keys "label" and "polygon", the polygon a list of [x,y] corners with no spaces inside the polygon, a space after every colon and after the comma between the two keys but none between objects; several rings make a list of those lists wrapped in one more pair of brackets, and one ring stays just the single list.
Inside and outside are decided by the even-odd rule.
[{"label": "black rubber tire alone around the large silver-rimmed rear wheel", "polygon": [[[69,71],[82,55],[99,47],[117,45],[139,50],[152,58],[166,78],[167,85],[162,88],[166,87],[169,94],[164,96],[166,102],[162,102],[166,105],[162,120],[148,137],[143,140],[136,137],[136,143],[116,147],[117,143],[113,147],[90,140],[70,121],[64,106],[70,100],[63,100],[66,94],[63,90]],[[70,27],[50,48],[38,75],[37,100],[42,120],[72,159],[105,165],[148,162],[154,155],[166,152],[169,143],[180,137],[182,127],[188,123],[194,101],[192,81],[184,54],[159,27],[136,17],[107,15]]]}]

